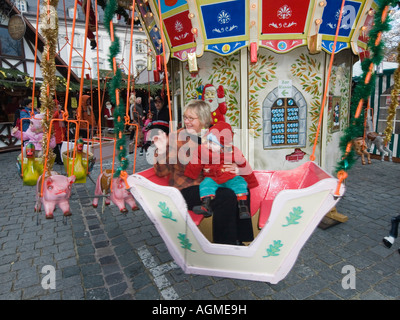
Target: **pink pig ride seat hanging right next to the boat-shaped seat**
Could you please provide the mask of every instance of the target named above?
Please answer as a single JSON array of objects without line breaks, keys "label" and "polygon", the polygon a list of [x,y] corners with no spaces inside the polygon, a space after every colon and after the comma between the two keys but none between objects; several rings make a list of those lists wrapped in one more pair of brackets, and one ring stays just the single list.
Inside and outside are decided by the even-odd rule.
[{"label": "pink pig ride seat hanging right next to the boat-shaped seat", "polygon": [[[110,169],[104,170],[103,173],[99,175],[96,181],[96,189],[94,192],[95,196],[106,195],[109,193],[109,196],[106,198],[106,205],[109,205],[111,200],[123,213],[128,212],[128,210],[125,208],[125,202],[132,208],[133,211],[139,210],[132,194],[125,188],[124,180],[120,177],[112,178],[111,183],[111,178],[112,170]],[[98,203],[99,198],[95,197],[92,202],[93,207],[97,208]]]}]

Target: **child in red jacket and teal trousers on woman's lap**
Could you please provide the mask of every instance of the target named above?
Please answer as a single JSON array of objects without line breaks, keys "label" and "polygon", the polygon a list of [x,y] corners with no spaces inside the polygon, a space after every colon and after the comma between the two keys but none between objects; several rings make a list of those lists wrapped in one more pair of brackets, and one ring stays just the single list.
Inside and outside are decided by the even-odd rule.
[{"label": "child in red jacket and teal trousers on woman's lap", "polygon": [[[193,212],[205,217],[212,215],[211,201],[215,198],[219,187],[232,189],[237,195],[239,218],[250,219],[247,206],[248,187],[258,186],[251,167],[242,152],[232,145],[232,128],[226,122],[218,122],[210,128],[205,141],[198,148],[198,156],[194,157],[185,168],[185,175],[196,179],[203,172],[204,180],[200,183],[202,204],[194,206]],[[244,171],[244,176],[236,175],[224,168],[224,164],[236,164]]]}]

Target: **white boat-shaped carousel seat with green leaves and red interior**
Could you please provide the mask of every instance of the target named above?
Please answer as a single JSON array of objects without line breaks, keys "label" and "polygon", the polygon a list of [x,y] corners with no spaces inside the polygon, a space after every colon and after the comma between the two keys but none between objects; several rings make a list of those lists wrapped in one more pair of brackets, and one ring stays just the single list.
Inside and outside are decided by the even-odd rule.
[{"label": "white boat-shaped carousel seat with green leaves and red interior", "polygon": [[345,187],[336,196],[338,179],[314,162],[255,175],[259,186],[250,190],[255,239],[248,246],[209,241],[199,227],[212,219],[189,212],[179,190],[152,168],[129,176],[128,184],[184,272],[278,283]]}]

